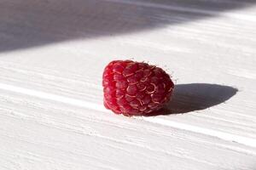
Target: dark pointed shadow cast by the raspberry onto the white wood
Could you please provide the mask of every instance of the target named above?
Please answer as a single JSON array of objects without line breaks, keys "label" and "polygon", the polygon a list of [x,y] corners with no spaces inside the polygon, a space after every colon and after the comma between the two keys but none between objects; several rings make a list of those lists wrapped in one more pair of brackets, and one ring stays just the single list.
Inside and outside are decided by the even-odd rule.
[{"label": "dark pointed shadow cast by the raspberry onto the white wood", "polygon": [[224,103],[234,96],[237,91],[237,88],[218,84],[177,84],[174,88],[172,100],[166,107],[147,116],[182,114],[204,110],[213,105]]}]

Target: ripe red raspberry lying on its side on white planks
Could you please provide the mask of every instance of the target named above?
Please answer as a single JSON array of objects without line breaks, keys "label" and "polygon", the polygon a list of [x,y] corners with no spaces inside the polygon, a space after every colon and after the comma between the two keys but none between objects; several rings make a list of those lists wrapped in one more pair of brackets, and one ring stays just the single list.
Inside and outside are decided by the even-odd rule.
[{"label": "ripe red raspberry lying on its side on white planks", "polygon": [[174,84],[161,68],[131,60],[113,60],[104,72],[104,105],[116,114],[142,116],[171,99]]}]

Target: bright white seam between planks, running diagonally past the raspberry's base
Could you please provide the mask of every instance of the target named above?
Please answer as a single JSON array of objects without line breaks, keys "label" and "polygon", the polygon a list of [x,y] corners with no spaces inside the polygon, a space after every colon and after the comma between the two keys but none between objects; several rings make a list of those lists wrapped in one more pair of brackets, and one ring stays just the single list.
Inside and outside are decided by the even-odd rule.
[{"label": "bright white seam between planks, running diagonally past the raspberry's base", "polygon": [[[64,103],[67,105],[75,105],[75,106],[83,107],[86,109],[106,112],[106,109],[104,108],[103,105],[97,105],[97,104],[87,102],[87,101],[81,100],[81,99],[73,99],[73,98],[69,98],[69,97],[60,96],[57,94],[49,94],[49,93],[41,92],[38,90],[32,90],[32,89],[28,89],[28,88],[20,88],[20,87],[16,87],[16,86],[4,84],[4,83],[0,83],[0,89],[6,90],[9,92],[14,92],[17,94],[26,94],[26,95],[29,95],[32,97],[38,97],[40,99],[49,99],[51,101],[56,101],[56,102]],[[239,144],[244,144],[244,145],[256,148],[256,139],[250,139],[247,137],[238,136],[236,134],[219,132],[219,131],[216,131],[213,129],[188,125],[188,124],[182,123],[182,122],[174,122],[174,121],[170,121],[170,120],[164,120],[164,119],[160,119],[157,117],[144,117],[143,116],[141,118],[137,117],[137,119],[142,119],[147,122],[157,123],[162,126],[164,125],[167,127],[175,127],[175,128],[183,129],[183,130],[193,132],[193,133],[201,133],[201,134],[205,134],[207,136],[217,137],[218,139],[224,139],[226,141],[236,142]]]}]

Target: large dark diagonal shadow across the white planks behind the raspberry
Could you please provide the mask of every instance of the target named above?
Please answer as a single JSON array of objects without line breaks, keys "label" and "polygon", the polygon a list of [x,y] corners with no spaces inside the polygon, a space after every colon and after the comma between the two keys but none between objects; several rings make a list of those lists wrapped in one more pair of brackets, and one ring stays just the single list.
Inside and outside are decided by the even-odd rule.
[{"label": "large dark diagonal shadow across the white planks behind the raspberry", "polygon": [[2,0],[0,52],[218,16],[254,0]]}]

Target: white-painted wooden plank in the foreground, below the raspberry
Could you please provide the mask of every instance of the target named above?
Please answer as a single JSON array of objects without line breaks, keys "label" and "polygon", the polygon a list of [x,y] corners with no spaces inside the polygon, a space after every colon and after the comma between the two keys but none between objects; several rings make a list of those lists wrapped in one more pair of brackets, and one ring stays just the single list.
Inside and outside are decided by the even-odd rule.
[{"label": "white-painted wooden plank in the foreground, below the raspberry", "polygon": [[13,168],[252,169],[256,160],[256,148],[108,112],[5,91],[0,104],[1,157]]}]

